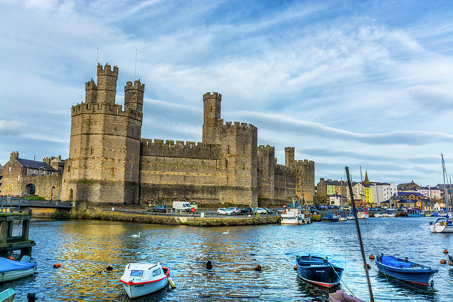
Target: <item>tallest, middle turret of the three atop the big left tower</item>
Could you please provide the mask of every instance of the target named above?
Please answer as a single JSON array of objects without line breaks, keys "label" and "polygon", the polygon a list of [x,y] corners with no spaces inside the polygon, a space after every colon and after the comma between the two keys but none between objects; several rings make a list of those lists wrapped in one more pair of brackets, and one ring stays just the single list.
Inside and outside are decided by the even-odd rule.
[{"label": "tallest, middle turret of the three atop the big left tower", "polygon": [[98,87],[97,87],[97,102],[100,104],[115,104],[116,81],[118,79],[118,67],[105,64],[98,64]]}]

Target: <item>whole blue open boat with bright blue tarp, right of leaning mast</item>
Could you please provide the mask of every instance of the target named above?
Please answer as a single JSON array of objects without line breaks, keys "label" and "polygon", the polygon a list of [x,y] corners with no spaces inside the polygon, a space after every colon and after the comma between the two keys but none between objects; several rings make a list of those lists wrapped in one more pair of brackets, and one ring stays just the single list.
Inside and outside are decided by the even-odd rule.
[{"label": "whole blue open boat with bright blue tarp, right of leaning mast", "polygon": [[384,256],[384,254],[376,257],[375,262],[379,271],[385,275],[421,285],[428,285],[429,279],[439,271],[409,261],[407,258],[400,259],[393,256]]}]

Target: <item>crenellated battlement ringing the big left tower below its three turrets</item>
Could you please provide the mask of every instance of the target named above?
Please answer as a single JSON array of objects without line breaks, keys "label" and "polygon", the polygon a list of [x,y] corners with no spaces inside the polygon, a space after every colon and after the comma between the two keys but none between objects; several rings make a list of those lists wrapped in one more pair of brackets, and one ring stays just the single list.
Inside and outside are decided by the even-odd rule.
[{"label": "crenellated battlement ringing the big left tower below its three turrets", "polygon": [[71,116],[79,114],[114,114],[139,120],[143,118],[143,113],[128,107],[125,107],[123,111],[123,107],[119,104],[81,103],[72,106]]}]

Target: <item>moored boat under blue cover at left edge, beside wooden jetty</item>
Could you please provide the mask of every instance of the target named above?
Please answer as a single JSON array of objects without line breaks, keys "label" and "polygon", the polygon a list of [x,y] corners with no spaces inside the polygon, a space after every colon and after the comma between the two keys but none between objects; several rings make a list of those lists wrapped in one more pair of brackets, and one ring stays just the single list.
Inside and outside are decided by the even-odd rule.
[{"label": "moored boat under blue cover at left edge, beside wooden jetty", "polygon": [[22,256],[21,261],[0,257],[0,282],[7,282],[22,277],[33,275],[36,271],[36,263],[31,262],[30,257]]}]

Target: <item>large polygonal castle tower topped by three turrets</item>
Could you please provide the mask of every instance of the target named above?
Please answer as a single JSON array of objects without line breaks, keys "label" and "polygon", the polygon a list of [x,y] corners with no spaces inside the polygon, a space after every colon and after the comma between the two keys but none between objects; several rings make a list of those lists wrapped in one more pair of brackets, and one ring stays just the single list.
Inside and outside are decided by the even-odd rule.
[{"label": "large polygonal castle tower topped by three turrets", "polygon": [[123,110],[115,104],[118,67],[98,64],[97,75],[85,103],[71,108],[61,199],[137,203],[144,84],[126,83]]}]

